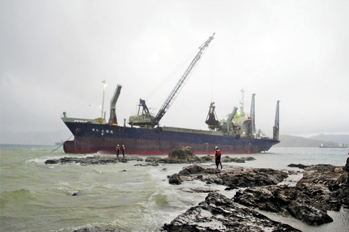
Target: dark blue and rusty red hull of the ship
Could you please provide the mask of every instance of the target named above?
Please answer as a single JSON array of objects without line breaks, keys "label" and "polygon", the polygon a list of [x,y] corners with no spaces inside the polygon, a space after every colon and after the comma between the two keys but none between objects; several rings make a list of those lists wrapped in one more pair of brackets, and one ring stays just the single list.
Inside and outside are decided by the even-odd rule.
[{"label": "dark blue and rusty red hull of the ship", "polygon": [[74,139],[64,142],[65,153],[115,154],[119,144],[126,146],[126,154],[129,155],[168,155],[171,150],[186,146],[190,146],[198,155],[211,154],[215,146],[223,154],[251,154],[267,151],[280,142],[274,139],[237,139],[205,134],[206,131],[200,130],[168,131],[161,127],[146,129],[91,123],[66,123],[66,126],[74,134]]}]

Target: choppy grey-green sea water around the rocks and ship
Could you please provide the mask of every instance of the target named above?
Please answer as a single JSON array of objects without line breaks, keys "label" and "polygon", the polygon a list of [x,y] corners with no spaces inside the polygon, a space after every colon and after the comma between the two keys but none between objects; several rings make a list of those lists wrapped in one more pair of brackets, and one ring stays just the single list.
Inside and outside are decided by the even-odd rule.
[{"label": "choppy grey-green sea water around the rocks and ship", "polygon": [[[54,148],[0,146],[0,231],[73,231],[90,226],[120,231],[159,231],[163,224],[205,199],[207,193],[193,193],[192,188],[219,190],[228,197],[234,194],[225,191],[224,186],[200,181],[168,184],[167,176],[178,173],[186,164],[140,167],[135,164],[144,162],[131,161],[93,166],[46,165],[47,159],[87,156],[65,154],[61,148],[50,153]],[[287,165],[343,167],[348,149],[276,147],[262,154],[230,156],[252,156],[256,160],[244,164],[223,163],[223,168],[234,165],[299,170]],[[349,231],[348,209],[329,211],[334,222],[322,226],[308,226],[292,217],[259,212],[302,231]]]}]

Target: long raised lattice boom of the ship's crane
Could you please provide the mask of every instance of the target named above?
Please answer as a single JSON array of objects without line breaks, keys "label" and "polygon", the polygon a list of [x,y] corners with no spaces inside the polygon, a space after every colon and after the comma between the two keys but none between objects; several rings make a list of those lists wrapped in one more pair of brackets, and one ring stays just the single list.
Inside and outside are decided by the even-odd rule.
[{"label": "long raised lattice boom of the ship's crane", "polygon": [[172,89],[170,95],[168,95],[168,98],[163,103],[163,106],[161,107],[161,109],[158,111],[158,114],[156,114],[156,116],[154,118],[154,121],[153,121],[153,127],[158,125],[158,123],[161,120],[161,118],[163,118],[163,116],[165,115],[166,111],[168,111],[168,108],[172,105],[173,101],[177,98],[177,95],[179,94],[179,92],[181,91],[181,88],[183,88],[184,84],[186,83],[186,79],[187,79],[188,75],[191,73],[191,70],[193,70],[193,68],[195,68],[195,64],[198,63],[198,61],[200,60],[203,52],[209,46],[209,43],[211,42],[211,40],[214,39],[214,34],[215,33],[213,33],[213,35],[210,36],[209,39],[206,40],[199,47],[200,51],[198,52],[198,54],[196,54],[196,56],[194,57],[193,61],[191,61],[191,64],[186,69],[186,71],[182,75],[181,79],[179,79],[179,82],[176,84],[176,86],[174,86],[174,88]]}]

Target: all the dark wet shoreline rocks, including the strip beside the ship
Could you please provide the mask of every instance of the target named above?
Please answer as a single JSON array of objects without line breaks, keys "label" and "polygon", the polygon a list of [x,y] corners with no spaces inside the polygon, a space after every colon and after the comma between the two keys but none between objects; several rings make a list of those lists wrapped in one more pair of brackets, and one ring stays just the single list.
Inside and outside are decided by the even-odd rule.
[{"label": "all the dark wet shoreline rocks, including the strip beside the ship", "polygon": [[[63,157],[47,160],[45,164],[81,165],[112,164],[131,160],[145,161],[137,166],[158,166],[158,164],[189,164],[179,173],[168,176],[171,185],[181,185],[193,180],[205,185],[223,185],[225,191],[233,191],[231,199],[211,188],[192,189],[192,192],[207,192],[205,201],[193,206],[177,216],[162,231],[299,231],[287,224],[275,222],[255,211],[276,212],[282,217],[293,217],[311,226],[333,222],[327,210],[349,208],[349,158],[344,167],[328,164],[303,165],[292,170],[252,169],[225,164],[216,169],[214,157],[197,157],[191,149],[172,151],[168,157]],[[234,161],[232,161],[234,160]],[[222,157],[222,162],[245,162],[243,159]],[[207,165],[210,163],[211,165]],[[285,185],[283,181],[290,175],[302,174],[295,185]],[[185,191],[185,190],[182,190]],[[231,195],[231,194],[230,194]],[[262,212],[260,211],[260,212]],[[77,229],[75,231],[117,231],[99,227]]]}]

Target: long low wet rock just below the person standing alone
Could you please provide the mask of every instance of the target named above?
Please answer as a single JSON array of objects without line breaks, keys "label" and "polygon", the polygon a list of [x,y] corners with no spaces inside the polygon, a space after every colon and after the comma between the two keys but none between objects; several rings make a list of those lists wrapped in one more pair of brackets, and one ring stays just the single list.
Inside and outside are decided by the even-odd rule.
[{"label": "long low wet rock just below the person standing alone", "polygon": [[284,171],[273,169],[240,169],[236,167],[216,169],[200,164],[184,167],[178,174],[174,175],[179,176],[182,181],[202,180],[205,183],[216,183],[228,187],[276,185],[288,176]]}]

